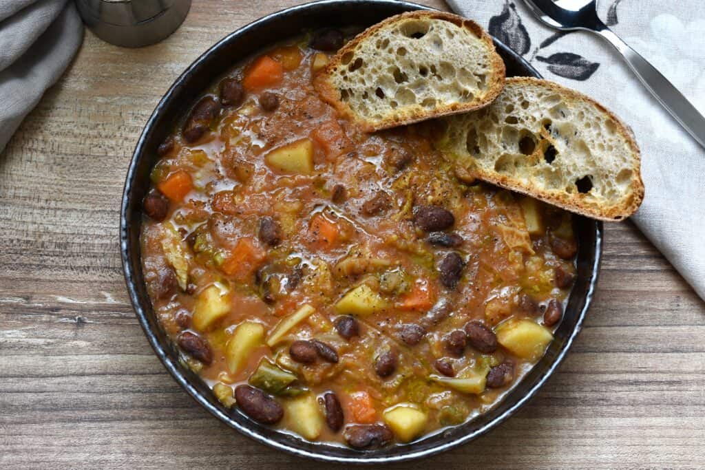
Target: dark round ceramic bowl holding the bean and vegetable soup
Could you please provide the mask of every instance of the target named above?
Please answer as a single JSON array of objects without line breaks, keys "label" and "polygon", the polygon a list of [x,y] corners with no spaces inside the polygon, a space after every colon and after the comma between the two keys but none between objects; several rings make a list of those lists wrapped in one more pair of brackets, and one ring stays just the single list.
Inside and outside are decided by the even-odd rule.
[{"label": "dark round ceramic bowl holding the bean and vegetable soup", "polygon": [[[159,144],[173,129],[176,120],[188,111],[195,98],[211,85],[214,77],[225,73],[235,63],[259,49],[286,37],[298,35],[302,30],[326,26],[367,27],[396,13],[420,8],[426,7],[388,0],[324,0],[288,8],[233,32],[197,58],[159,101],[137,142],[128,169],[120,221],[123,268],[137,318],[140,319],[154,352],[176,381],[223,423],[260,443],[302,457],[345,463],[400,462],[448,450],[486,433],[526,404],[556,370],[580,330],[594,292],[600,261],[602,225],[587,218],[576,217],[575,228],[580,245],[577,255],[577,280],[568,299],[563,321],[556,330],[556,339],[548,347],[546,355],[489,412],[461,426],[428,435],[414,443],[393,445],[381,450],[360,452],[342,446],[309,443],[294,435],[262,426],[248,419],[236,408],[229,410],[223,407],[200,378],[180,364],[176,348],[161,330],[154,316],[140,263],[141,201],[149,190],[149,170],[157,162]],[[504,44],[497,41],[495,44],[506,63],[509,76],[539,76],[536,70]]]}]

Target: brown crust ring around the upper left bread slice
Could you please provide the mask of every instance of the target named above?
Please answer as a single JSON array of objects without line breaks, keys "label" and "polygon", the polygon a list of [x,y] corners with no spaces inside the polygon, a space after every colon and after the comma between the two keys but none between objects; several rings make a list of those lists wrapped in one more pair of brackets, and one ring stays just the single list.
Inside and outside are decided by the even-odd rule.
[{"label": "brown crust ring around the upper left bread slice", "polygon": [[[472,32],[472,34],[479,37],[486,44],[487,49],[489,51],[490,67],[492,70],[492,82],[489,86],[487,93],[485,94],[484,100],[473,104],[455,103],[446,106],[439,106],[432,111],[420,108],[419,106],[419,109],[417,111],[413,111],[412,116],[410,117],[398,119],[388,118],[382,120],[381,123],[377,123],[376,125],[362,119],[361,116],[358,116],[357,113],[355,113],[355,111],[353,111],[353,109],[351,109],[347,103],[340,100],[340,94],[338,93],[338,90],[336,89],[336,87],[333,87],[333,85],[331,85],[331,82],[327,80],[327,78],[329,77],[333,68],[340,64],[343,55],[346,54],[348,51],[354,51],[357,47],[357,44],[360,44],[360,42],[364,41],[365,39],[367,39],[367,37],[374,34],[376,30],[379,30],[382,27],[386,27],[391,23],[395,23],[398,20],[405,20],[407,18],[431,18],[438,20],[446,20],[460,27],[467,28]],[[487,32],[485,32],[484,29],[482,29],[480,25],[478,25],[472,20],[462,18],[458,15],[453,15],[453,13],[446,13],[445,11],[421,10],[400,13],[399,15],[386,18],[385,20],[381,21],[380,23],[377,23],[376,25],[373,25],[372,27],[367,28],[367,30],[364,30],[359,35],[351,39],[348,44],[345,44],[345,46],[343,46],[338,51],[338,53],[333,56],[333,58],[331,59],[329,64],[324,68],[324,70],[321,70],[317,74],[317,76],[314,78],[314,88],[321,96],[321,99],[333,106],[333,108],[335,108],[341,116],[348,118],[349,120],[353,120],[355,123],[360,125],[362,130],[364,130],[365,132],[374,132],[377,130],[393,128],[398,125],[417,123],[419,121],[427,120],[430,118],[438,118],[441,116],[448,116],[450,114],[467,113],[469,111],[475,111],[477,109],[484,108],[485,106],[491,104],[491,102],[494,101],[496,97],[498,97],[498,95],[502,92],[502,89],[504,87],[505,74],[506,69],[504,61],[502,60],[501,56],[497,54],[497,51],[494,47],[494,42],[492,42],[492,38],[489,34],[487,34]]]}]

